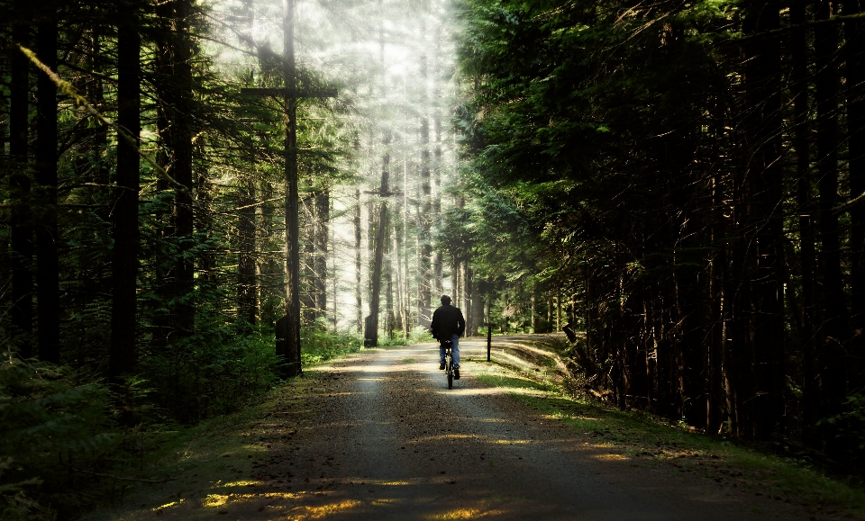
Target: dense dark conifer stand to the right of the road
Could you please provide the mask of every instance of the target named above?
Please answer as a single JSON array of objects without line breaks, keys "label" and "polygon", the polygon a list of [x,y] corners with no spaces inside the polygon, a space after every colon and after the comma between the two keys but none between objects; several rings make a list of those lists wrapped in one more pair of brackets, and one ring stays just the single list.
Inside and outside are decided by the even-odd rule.
[{"label": "dense dark conifer stand to the right of the road", "polygon": [[858,16],[462,3],[459,221],[521,320],[531,297],[581,331],[596,396],[861,464]]}]

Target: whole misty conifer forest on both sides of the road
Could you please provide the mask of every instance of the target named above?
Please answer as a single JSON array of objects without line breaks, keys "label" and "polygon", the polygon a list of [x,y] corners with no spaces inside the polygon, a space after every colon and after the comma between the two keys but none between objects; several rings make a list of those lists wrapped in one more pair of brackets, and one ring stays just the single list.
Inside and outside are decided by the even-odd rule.
[{"label": "whole misty conifer forest on both sides of the road", "polygon": [[0,20],[0,517],[81,516],[150,433],[428,339],[442,293],[565,332],[594,400],[862,471],[858,2]]}]

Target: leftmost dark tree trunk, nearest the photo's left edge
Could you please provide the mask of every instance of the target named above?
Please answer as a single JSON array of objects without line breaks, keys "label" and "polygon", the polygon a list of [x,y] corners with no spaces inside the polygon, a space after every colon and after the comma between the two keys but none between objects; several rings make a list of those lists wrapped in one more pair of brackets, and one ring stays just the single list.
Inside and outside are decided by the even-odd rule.
[{"label": "leftmost dark tree trunk, nearest the photo's left edge", "polygon": [[[15,6],[17,15],[25,19],[24,2],[19,0]],[[13,38],[22,45],[28,45],[27,26],[18,22],[13,27]],[[33,355],[33,229],[30,205],[30,177],[27,168],[27,129],[29,113],[30,74],[29,61],[21,50],[9,46],[11,54],[11,85],[9,113],[9,155],[12,157],[14,172],[9,176],[10,192],[13,200],[11,222],[12,246],[12,307],[9,310],[15,346],[23,358]]]}]

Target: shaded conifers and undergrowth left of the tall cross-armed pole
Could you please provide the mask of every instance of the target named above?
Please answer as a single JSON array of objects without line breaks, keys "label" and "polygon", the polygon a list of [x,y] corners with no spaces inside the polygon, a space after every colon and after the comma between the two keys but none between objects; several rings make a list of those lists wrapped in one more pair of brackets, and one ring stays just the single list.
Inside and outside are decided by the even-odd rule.
[{"label": "shaded conifers and undergrowth left of the tall cross-armed pole", "polygon": [[[251,7],[0,2],[4,519],[118,499],[110,476],[149,433],[277,381],[282,113],[241,87],[282,86],[280,66],[223,27]],[[219,49],[247,67],[220,68]],[[323,127],[299,130],[328,140],[307,186],[345,177]]]}]

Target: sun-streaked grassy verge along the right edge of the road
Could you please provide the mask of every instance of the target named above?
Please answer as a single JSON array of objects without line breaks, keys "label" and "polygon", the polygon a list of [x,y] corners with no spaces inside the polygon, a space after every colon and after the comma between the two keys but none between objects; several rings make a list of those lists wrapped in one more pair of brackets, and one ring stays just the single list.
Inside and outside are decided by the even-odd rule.
[{"label": "sun-streaked grassy verge along the right edge of the road", "polygon": [[[803,505],[820,514],[834,509],[865,515],[865,490],[853,478],[840,479],[788,458],[760,451],[721,436],[693,432],[651,415],[622,411],[595,400],[569,395],[545,373],[510,364],[474,360],[487,371],[477,378],[492,387],[512,389],[515,400],[564,422],[591,445],[617,449],[632,466],[691,472],[722,487],[752,491]],[[531,389],[524,393],[518,390]],[[542,392],[536,392],[542,391]]]}]

